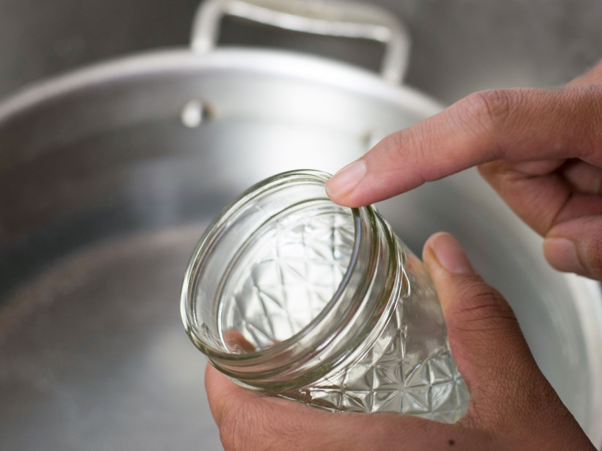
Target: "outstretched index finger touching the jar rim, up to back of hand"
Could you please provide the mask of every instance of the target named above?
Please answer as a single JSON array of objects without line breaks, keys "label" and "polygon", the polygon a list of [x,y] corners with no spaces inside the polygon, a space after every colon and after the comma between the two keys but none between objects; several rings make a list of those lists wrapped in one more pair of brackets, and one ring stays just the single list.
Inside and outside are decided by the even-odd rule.
[{"label": "outstretched index finger touching the jar rim, up to back of hand", "polygon": [[380,141],[326,184],[359,207],[496,160],[601,164],[602,86],[481,91]]}]

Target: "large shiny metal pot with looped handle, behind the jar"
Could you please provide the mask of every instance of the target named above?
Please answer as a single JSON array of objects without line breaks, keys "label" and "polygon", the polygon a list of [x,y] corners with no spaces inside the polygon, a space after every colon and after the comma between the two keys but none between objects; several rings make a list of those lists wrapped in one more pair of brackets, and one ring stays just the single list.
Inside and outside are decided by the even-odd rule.
[{"label": "large shiny metal pot with looped handle, behind the jar", "polygon": [[[216,29],[228,13],[289,28],[280,19],[300,17],[296,29],[363,29],[364,38],[388,29],[380,40],[403,53],[403,28],[376,8],[296,5],[215,0],[196,23]],[[385,64],[384,81],[308,55],[213,49],[216,33],[195,30],[193,42],[209,39],[195,44],[201,53],[114,60],[0,105],[2,449],[217,449],[204,360],[178,317],[181,277],[203,227],[264,177],[335,171],[439,110],[391,82],[403,58]],[[437,230],[458,236],[600,446],[598,284],[550,269],[541,239],[474,171],[379,209],[415,251]]]}]

